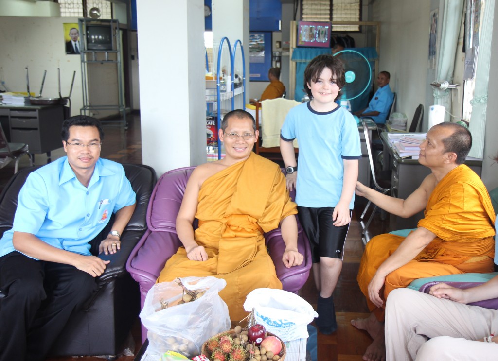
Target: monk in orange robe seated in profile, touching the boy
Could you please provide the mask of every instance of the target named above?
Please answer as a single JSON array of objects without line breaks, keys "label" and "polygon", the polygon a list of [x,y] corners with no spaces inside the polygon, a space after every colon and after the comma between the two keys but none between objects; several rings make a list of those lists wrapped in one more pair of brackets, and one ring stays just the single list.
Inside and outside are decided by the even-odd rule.
[{"label": "monk in orange robe seated in profile, touching the boy", "polygon": [[382,234],[367,243],[357,279],[372,313],[351,321],[373,338],[364,360],[385,357],[383,307],[393,289],[422,277],[494,270],[495,212],[486,186],[463,164],[471,146],[467,128],[448,122],[433,126],[419,158],[432,173],[405,200],[357,182],[356,194],[389,213],[408,218],[425,208],[406,238]]}]

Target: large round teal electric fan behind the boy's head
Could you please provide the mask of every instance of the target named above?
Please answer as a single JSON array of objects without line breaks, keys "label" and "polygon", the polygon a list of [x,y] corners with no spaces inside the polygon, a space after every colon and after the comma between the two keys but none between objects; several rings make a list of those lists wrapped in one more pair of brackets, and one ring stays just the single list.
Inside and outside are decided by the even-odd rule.
[{"label": "large round teal electric fan behind the boy's head", "polygon": [[[357,99],[360,95],[370,91],[372,86],[372,68],[367,58],[355,50],[342,50],[334,54],[339,57],[346,70],[346,85],[343,88],[343,95],[340,105],[351,111],[351,100]],[[353,106],[353,108],[355,108]],[[356,117],[357,123],[360,119]]]}]

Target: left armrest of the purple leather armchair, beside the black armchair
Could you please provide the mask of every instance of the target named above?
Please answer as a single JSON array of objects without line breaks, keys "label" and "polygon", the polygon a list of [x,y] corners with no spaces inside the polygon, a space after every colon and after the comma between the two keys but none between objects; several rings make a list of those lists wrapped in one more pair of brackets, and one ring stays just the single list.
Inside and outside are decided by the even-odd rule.
[{"label": "left armrest of the purple leather armchair, beside the black armchair", "polygon": [[147,230],[131,251],[126,269],[139,283],[155,283],[166,261],[181,245],[176,233]]}]

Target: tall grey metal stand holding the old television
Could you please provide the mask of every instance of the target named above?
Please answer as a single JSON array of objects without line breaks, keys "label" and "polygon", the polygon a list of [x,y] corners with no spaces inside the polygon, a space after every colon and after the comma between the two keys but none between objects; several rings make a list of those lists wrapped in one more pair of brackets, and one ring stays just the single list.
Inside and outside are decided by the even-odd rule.
[{"label": "tall grey metal stand holding the old television", "polygon": [[[95,20],[81,18],[78,20],[80,28],[80,47],[81,56],[81,81],[83,83],[83,107],[80,109],[80,114],[87,114],[92,110],[114,110],[117,109],[122,114],[122,120],[118,121],[119,125],[124,125],[124,129],[128,128],[126,121],[126,106],[124,104],[123,92],[123,69],[121,62],[121,39],[120,39],[120,24],[118,20]],[[87,27],[88,25],[110,26],[112,28],[112,50],[97,50],[88,49],[87,43]],[[111,59],[110,55],[115,54],[116,60]],[[103,58],[103,59],[102,59]],[[118,104],[100,104],[92,105],[89,101],[88,94],[88,64],[115,65],[118,74]]]}]

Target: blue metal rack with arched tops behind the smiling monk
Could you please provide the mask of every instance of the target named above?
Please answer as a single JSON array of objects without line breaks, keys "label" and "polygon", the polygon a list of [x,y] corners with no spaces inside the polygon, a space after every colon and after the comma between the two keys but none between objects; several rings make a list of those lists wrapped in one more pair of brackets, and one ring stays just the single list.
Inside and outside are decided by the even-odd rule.
[{"label": "blue metal rack with arched tops behind the smiling monk", "polygon": [[[235,82],[234,82],[235,79],[232,79],[230,90],[226,89],[226,91],[222,91],[222,88],[221,88],[222,84],[220,83],[221,82],[221,77],[220,77],[221,74],[220,73],[221,73],[221,69],[222,69],[222,66],[221,66],[222,51],[223,51],[223,45],[225,43],[228,47],[228,51],[230,54],[230,70],[231,70],[231,74],[233,77],[235,77],[235,57],[236,57],[237,49],[238,49],[238,45],[239,45],[239,49],[240,49],[240,52],[242,55],[243,78],[242,78],[242,87],[235,88]],[[206,61],[206,64],[207,64],[207,61]],[[206,93],[206,103],[212,103],[212,104],[214,104],[214,106],[217,107],[217,115],[218,115],[217,116],[217,129],[221,129],[221,121],[222,121],[221,102],[231,99],[232,103],[231,103],[230,110],[234,110],[235,109],[235,97],[237,95],[243,94],[243,100],[242,100],[243,107],[241,109],[244,108],[244,105],[245,105],[244,103],[246,101],[246,59],[244,58],[244,47],[242,46],[242,42],[240,40],[236,40],[236,42],[234,44],[234,49],[232,52],[232,47],[230,45],[230,41],[228,40],[228,38],[223,37],[221,39],[220,46],[218,47],[218,62],[216,64],[216,68],[217,68],[216,69],[216,95],[211,95],[211,94]],[[226,84],[225,84],[225,87],[226,87]],[[218,139],[218,159],[221,159],[221,155],[222,155],[222,145],[221,145],[221,141]]]}]

